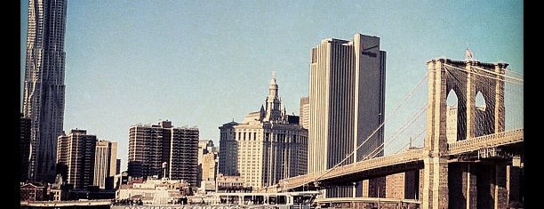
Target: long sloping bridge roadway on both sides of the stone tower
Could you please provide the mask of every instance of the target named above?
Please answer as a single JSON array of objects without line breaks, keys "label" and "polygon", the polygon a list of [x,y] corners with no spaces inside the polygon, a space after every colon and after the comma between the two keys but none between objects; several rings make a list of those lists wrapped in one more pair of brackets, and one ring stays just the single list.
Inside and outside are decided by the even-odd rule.
[{"label": "long sloping bridge roadway on both sides of the stone tower", "polygon": [[[493,133],[465,141],[449,143],[448,150],[444,153],[444,156],[467,154],[479,149],[497,148],[510,144],[518,144],[523,141],[523,128],[502,133]],[[328,171],[308,173],[284,179],[279,181],[278,184],[262,190],[285,191],[289,189],[303,189],[303,187],[308,186],[308,183],[314,183],[314,186],[326,187],[326,185],[340,185],[386,176],[388,174],[403,173],[423,168],[423,159],[427,158],[429,154],[427,149],[409,149],[398,154],[375,157],[350,165],[342,165]]]}]

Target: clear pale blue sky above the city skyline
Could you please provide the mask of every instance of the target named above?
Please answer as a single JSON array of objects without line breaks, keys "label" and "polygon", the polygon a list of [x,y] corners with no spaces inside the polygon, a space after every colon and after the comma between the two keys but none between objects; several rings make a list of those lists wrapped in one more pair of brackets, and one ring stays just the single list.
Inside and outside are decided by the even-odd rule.
[{"label": "clear pale blue sky above the city skyline", "polygon": [[[28,1],[20,2],[20,84]],[[168,119],[218,127],[241,122],[276,71],[288,113],[308,95],[309,54],[324,38],[380,37],[386,117],[438,57],[507,62],[524,70],[523,1],[68,1],[64,130],[119,143],[126,169],[132,125]],[[387,129],[386,129],[387,130]]]}]

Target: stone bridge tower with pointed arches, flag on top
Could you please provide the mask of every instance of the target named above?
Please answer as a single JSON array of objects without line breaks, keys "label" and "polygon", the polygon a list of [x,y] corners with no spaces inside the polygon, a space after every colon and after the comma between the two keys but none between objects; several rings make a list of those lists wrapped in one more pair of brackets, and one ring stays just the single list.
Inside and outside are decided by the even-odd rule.
[{"label": "stone bridge tower with pointed arches, flag on top", "polygon": [[[428,157],[424,159],[424,179],[422,208],[452,208],[450,203],[451,189],[448,188],[448,143],[446,139],[446,110],[448,92],[458,96],[457,141],[467,140],[479,135],[500,133],[505,131],[504,79],[506,63],[480,63],[475,60],[429,60],[428,66],[428,110],[427,140],[425,149]],[[484,112],[476,112],[476,93],[481,92],[486,108]],[[483,120],[476,121],[476,114]],[[484,123],[483,123],[484,122]],[[476,125],[477,123],[477,125]],[[451,165],[450,165],[451,166]],[[462,185],[459,187],[464,196],[462,207],[481,208],[484,203],[477,204],[476,169],[470,172],[471,164],[464,165],[461,175]],[[487,166],[490,167],[490,166]],[[492,182],[487,195],[491,196],[491,208],[506,208],[507,191],[506,165],[493,165],[487,169],[491,173],[486,178]],[[478,168],[477,170],[482,170]],[[492,171],[490,171],[492,170]],[[468,171],[468,172],[467,172]],[[470,179],[472,177],[472,180]],[[482,178],[480,178],[482,179]],[[485,190],[485,189],[482,189]],[[455,192],[454,192],[455,193]],[[504,197],[504,198],[503,198]],[[501,200],[505,199],[505,200]],[[455,205],[459,206],[459,205]],[[457,207],[456,207],[457,208]]]}]

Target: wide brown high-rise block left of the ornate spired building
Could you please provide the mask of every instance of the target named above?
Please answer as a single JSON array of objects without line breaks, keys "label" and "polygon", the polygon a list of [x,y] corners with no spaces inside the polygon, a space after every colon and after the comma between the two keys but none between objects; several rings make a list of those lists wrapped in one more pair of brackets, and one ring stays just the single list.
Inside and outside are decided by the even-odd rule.
[{"label": "wide brown high-rise block left of the ornate spired building", "polygon": [[196,127],[173,127],[171,121],[130,128],[128,173],[132,177],[166,177],[196,187],[198,137]]}]

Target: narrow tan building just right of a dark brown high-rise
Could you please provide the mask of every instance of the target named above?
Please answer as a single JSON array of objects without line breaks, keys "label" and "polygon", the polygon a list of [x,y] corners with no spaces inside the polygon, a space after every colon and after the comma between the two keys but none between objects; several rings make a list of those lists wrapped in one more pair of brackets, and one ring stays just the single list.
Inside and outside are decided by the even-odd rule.
[{"label": "narrow tan building just right of a dark brown high-rise", "polygon": [[94,157],[94,185],[106,189],[106,179],[117,173],[117,142],[97,141]]}]

